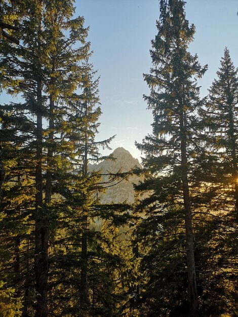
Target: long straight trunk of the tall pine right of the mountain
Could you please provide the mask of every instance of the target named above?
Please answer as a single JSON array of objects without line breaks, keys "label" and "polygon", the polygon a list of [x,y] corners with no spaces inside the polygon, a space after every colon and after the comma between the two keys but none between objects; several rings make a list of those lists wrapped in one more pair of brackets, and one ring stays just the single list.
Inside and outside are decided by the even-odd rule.
[{"label": "long straight trunk of the tall pine right of the mountain", "polygon": [[185,239],[186,239],[186,258],[187,258],[187,277],[188,277],[188,303],[191,317],[199,316],[199,301],[196,288],[196,270],[194,260],[194,243],[192,232],[192,217],[190,206],[190,194],[187,177],[187,154],[186,154],[186,115],[181,111],[180,132],[181,132],[181,177],[183,189],[184,220],[185,220]]}]

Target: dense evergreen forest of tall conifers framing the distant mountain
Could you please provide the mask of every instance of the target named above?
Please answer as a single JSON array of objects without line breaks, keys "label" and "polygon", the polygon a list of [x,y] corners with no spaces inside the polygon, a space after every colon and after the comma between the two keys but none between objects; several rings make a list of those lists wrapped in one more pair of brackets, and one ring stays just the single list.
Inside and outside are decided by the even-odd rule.
[{"label": "dense evergreen forest of tall conifers framing the distant mountain", "polygon": [[[99,75],[73,0],[1,0],[0,317],[238,315],[238,70],[189,53],[182,0],[160,0],[144,74],[142,168],[89,170]],[[132,39],[133,41],[133,39]],[[14,100],[17,102],[14,102]],[[139,111],[139,110],[138,110]],[[135,202],[99,193],[136,174]],[[100,229],[95,222],[100,223]]]}]

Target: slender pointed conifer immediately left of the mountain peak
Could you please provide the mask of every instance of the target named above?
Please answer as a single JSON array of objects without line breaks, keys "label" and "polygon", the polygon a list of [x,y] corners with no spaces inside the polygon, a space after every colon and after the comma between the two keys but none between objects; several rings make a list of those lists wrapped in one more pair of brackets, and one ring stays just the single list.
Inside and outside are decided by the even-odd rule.
[{"label": "slender pointed conifer immediately left of the mountain peak", "polygon": [[[54,280],[59,279],[61,289],[65,290],[65,300],[70,298],[70,305],[64,310],[58,308],[58,313],[70,312],[85,316],[115,311],[115,305],[120,298],[118,291],[114,289],[116,288],[115,276],[111,273],[110,283],[107,276],[109,267],[112,272],[116,271],[111,263],[114,263],[115,259],[117,262],[120,260],[117,254],[113,254],[115,250],[112,247],[114,244],[112,240],[109,242],[109,248],[112,250],[109,251],[108,247],[105,250],[104,234],[108,236],[110,233],[108,231],[105,233],[105,230],[101,232],[95,230],[94,220],[97,219],[96,221],[104,223],[109,216],[114,220],[120,219],[120,215],[116,216],[116,214],[120,214],[120,210],[121,213],[126,213],[128,206],[114,206],[114,210],[113,206],[100,206],[98,202],[96,191],[103,190],[107,184],[100,180],[100,173],[88,171],[88,162],[100,160],[98,147],[107,146],[111,138],[105,141],[95,141],[99,125],[97,120],[101,113],[100,108],[96,107],[99,103],[98,79],[94,79],[96,72],[93,71],[88,59],[85,60],[82,67],[81,93],[73,94],[68,98],[68,105],[72,110],[66,118],[68,127],[70,127],[67,129],[66,137],[72,142],[73,152],[75,150],[75,158],[71,165],[73,183],[67,178],[61,180],[60,194],[64,197],[65,210],[60,207],[62,211],[58,221],[61,223],[60,227],[64,227],[64,232],[62,233],[61,230],[57,233],[55,239],[55,245],[58,245],[55,256],[59,252],[60,261],[52,264],[54,265],[53,270],[60,271],[62,277],[59,279],[53,273],[54,276],[51,280],[54,283]],[[71,169],[66,171],[67,174],[70,174]],[[123,176],[125,175],[123,174]],[[120,175],[113,175],[113,179],[117,177]],[[117,227],[125,222],[126,215],[121,216],[122,220],[118,220]],[[62,251],[63,254],[60,255]],[[64,263],[69,263],[69,261],[71,274],[66,276],[67,274],[64,273],[68,268]],[[104,264],[106,261],[109,263]],[[123,267],[123,269],[125,268]],[[68,290],[69,284],[70,289]],[[54,292],[57,292],[56,289]],[[54,292],[51,295],[53,298]],[[108,302],[106,302],[105,296],[110,297]],[[58,301],[54,300],[52,310],[57,309],[57,303]]]}]

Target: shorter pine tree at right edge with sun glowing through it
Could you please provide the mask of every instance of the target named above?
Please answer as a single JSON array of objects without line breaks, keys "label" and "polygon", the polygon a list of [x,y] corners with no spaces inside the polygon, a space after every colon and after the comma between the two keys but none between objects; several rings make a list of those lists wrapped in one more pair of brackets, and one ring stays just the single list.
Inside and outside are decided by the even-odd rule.
[{"label": "shorter pine tree at right edge with sun glowing through it", "polygon": [[[237,89],[237,69],[226,48],[217,79],[209,89],[206,107],[200,110],[204,124],[205,150],[201,161],[201,178],[204,180],[203,188],[206,188],[206,222],[203,228],[199,228],[203,243],[198,246],[197,252],[201,251],[199,266],[207,267],[203,269],[207,274],[200,274],[205,275],[201,276],[203,305],[217,314],[235,314]],[[214,268],[212,275],[208,274],[211,261]],[[212,300],[210,294],[216,300]],[[230,300],[226,301],[225,298]]]}]

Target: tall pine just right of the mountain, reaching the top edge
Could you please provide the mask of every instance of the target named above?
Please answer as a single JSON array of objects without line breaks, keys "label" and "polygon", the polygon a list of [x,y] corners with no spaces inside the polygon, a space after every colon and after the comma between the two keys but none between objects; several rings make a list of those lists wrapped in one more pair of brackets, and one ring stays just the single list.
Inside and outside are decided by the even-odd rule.
[{"label": "tall pine just right of the mountain, reaching the top edge", "polygon": [[[201,105],[196,82],[207,66],[201,67],[197,56],[188,52],[195,27],[189,26],[185,19],[183,1],[169,2],[164,23],[157,22],[157,29],[150,52],[153,68],[150,74],[144,75],[150,87],[150,96],[144,98],[153,111],[153,134],[148,135],[142,144],[137,144],[146,154],[144,167],[151,172],[141,188],[153,191],[143,203],[148,210],[144,223],[147,223],[147,229],[151,225],[150,236],[159,235],[160,230],[166,228],[172,230],[172,226],[176,231],[174,236],[181,239],[181,234],[185,235],[189,311],[191,316],[197,316],[199,307],[189,177],[194,155],[194,132],[199,127],[196,111]],[[173,240],[165,243],[174,245]],[[168,246],[164,244],[162,248],[168,250]],[[159,250],[160,247],[157,248]]]}]

